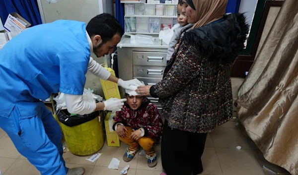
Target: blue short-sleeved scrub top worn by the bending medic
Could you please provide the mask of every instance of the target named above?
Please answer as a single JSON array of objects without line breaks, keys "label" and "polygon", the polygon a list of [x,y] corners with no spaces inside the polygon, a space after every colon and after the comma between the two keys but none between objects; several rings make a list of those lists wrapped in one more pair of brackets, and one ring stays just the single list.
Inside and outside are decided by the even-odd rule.
[{"label": "blue short-sleeved scrub top worn by the bending medic", "polygon": [[90,58],[83,22],[58,20],[15,36],[0,50],[0,116],[37,115],[52,93],[81,95]]}]

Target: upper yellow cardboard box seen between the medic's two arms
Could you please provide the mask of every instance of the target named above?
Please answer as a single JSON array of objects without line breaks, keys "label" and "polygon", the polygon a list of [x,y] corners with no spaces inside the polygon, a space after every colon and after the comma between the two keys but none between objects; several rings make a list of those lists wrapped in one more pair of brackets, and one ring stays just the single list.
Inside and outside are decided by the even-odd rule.
[{"label": "upper yellow cardboard box seen between the medic's two arms", "polygon": [[[115,71],[112,68],[110,68],[110,67],[105,67],[105,68],[109,72],[111,72],[112,75],[115,76]],[[103,90],[105,100],[108,100],[110,98],[121,99],[117,83],[114,83],[114,82],[109,81],[109,80],[104,81],[102,79],[100,79],[100,83],[101,83],[101,86],[102,86],[102,90]]]}]

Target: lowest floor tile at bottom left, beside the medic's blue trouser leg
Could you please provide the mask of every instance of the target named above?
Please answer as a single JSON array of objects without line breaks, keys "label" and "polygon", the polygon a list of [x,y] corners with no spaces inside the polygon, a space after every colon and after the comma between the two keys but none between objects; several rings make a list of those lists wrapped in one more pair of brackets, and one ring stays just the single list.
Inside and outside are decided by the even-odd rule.
[{"label": "lowest floor tile at bottom left, beside the medic's blue trouser leg", "polygon": [[40,175],[40,173],[29,161],[17,159],[4,175]]}]

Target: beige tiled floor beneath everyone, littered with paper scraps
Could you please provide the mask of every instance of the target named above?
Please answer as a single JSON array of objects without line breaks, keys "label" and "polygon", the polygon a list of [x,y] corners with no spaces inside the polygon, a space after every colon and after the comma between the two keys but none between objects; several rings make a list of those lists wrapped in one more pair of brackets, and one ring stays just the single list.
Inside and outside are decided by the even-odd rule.
[{"label": "beige tiled floor beneath everyone, littered with paper scraps", "polygon": [[[235,148],[238,145],[242,146],[241,150]],[[86,171],[84,175],[119,175],[121,168],[126,165],[130,165],[128,175],[160,175],[162,172],[160,145],[155,148],[159,154],[155,168],[149,168],[146,158],[142,155],[137,155],[130,163],[124,162],[122,156],[126,147],[125,144],[121,144],[120,148],[104,145],[99,151],[103,153],[102,156],[94,163],[85,160],[90,156],[78,157],[70,152],[66,152],[64,158],[70,168],[83,167]],[[121,161],[119,170],[107,168],[113,157]],[[216,128],[208,135],[202,160],[203,175],[267,174],[262,169],[264,163],[262,155],[253,142],[242,135],[233,121]],[[9,137],[2,130],[0,130],[0,170],[3,175],[40,175],[35,167],[16,151]]]}]

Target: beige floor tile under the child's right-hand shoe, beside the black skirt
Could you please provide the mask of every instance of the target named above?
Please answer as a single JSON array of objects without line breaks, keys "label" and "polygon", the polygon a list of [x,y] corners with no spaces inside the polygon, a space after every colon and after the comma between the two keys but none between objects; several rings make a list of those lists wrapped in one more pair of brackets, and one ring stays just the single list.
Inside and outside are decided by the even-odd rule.
[{"label": "beige floor tile under the child's right-hand shoe, beside the black skirt", "polygon": [[161,165],[161,147],[160,144],[156,145],[154,147],[156,153],[157,153],[157,165],[156,167],[150,168],[147,164],[147,158],[144,155],[139,155],[138,159],[138,170],[151,170],[151,171],[162,171],[162,165]]}]

